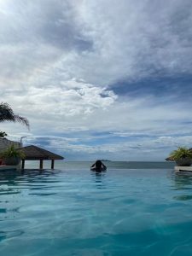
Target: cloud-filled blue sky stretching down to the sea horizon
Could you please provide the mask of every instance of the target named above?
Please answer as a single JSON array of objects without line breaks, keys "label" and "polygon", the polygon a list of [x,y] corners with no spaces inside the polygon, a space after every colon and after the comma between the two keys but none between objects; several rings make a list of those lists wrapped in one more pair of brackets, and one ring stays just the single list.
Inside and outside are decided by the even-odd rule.
[{"label": "cloud-filled blue sky stretching down to the sea horizon", "polygon": [[9,139],[66,160],[192,148],[191,0],[0,0]]}]

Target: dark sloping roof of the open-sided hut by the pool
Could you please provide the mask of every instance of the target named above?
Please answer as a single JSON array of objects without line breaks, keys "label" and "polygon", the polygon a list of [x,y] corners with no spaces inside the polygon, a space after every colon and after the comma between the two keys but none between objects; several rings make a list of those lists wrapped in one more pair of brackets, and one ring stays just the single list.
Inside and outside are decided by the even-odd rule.
[{"label": "dark sloping roof of the open-sided hut by the pool", "polygon": [[63,160],[59,154],[52,153],[44,148],[38,148],[37,146],[26,146],[20,148],[22,152],[25,154],[25,160]]}]

